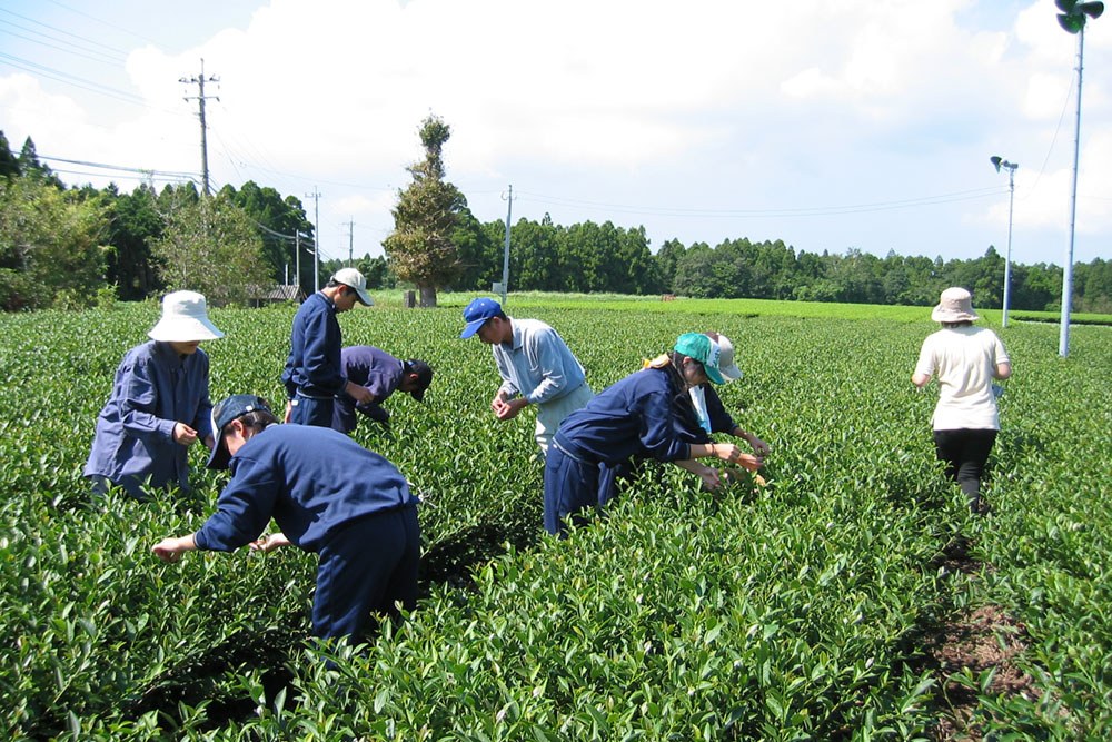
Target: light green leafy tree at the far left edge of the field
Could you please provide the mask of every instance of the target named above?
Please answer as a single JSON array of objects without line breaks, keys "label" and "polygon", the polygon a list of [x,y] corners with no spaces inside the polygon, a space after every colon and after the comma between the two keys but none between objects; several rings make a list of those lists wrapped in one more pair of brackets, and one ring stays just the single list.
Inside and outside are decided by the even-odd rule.
[{"label": "light green leafy tree at the far left edge of the field", "polygon": [[98,202],[39,174],[0,180],[0,307],[91,306],[103,284]]}]

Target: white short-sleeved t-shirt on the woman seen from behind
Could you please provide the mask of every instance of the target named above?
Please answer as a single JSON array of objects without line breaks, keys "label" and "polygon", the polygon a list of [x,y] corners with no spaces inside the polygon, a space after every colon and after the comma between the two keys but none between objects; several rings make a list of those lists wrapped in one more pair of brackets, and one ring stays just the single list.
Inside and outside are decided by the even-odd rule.
[{"label": "white short-sleeved t-shirt on the woman seen from behind", "polygon": [[915,373],[939,379],[934,429],[999,431],[992,379],[997,364],[1010,363],[1004,344],[985,327],[946,327],[927,336]]}]

